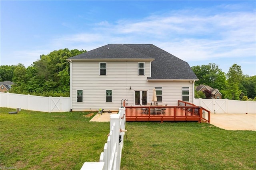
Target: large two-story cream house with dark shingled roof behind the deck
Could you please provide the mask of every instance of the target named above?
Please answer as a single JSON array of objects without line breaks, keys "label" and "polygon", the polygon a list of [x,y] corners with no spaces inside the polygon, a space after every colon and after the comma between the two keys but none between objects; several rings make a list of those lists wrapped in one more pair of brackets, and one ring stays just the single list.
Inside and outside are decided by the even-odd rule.
[{"label": "large two-story cream house with dark shingled roof behind the deck", "polygon": [[73,111],[118,110],[151,103],[193,103],[198,78],[187,62],[152,44],[108,44],[67,59]]}]

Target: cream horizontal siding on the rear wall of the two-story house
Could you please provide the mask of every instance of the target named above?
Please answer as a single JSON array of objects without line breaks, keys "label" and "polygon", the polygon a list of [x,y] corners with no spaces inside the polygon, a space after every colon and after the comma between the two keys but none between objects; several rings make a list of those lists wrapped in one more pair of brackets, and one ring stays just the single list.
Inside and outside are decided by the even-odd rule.
[{"label": "cream horizontal siding on the rear wall of the two-story house", "polygon": [[[138,61],[106,61],[107,76],[99,75],[101,61],[72,61],[72,109],[73,111],[118,110],[121,99],[128,99],[126,104],[134,106],[134,91],[148,91],[147,101],[151,102],[154,87],[162,87],[162,102],[158,105],[177,106],[182,100],[181,88],[190,87],[189,81],[148,81],[150,77],[150,61],[145,61],[145,76],[138,76]],[[104,61],[102,61],[104,62]],[[131,89],[130,89],[131,87]],[[76,103],[76,89],[82,89],[83,103]],[[106,102],[106,89],[111,89],[112,103]],[[192,91],[189,93],[192,94]],[[70,96],[71,96],[70,95]],[[192,95],[189,96],[192,100]]]}]

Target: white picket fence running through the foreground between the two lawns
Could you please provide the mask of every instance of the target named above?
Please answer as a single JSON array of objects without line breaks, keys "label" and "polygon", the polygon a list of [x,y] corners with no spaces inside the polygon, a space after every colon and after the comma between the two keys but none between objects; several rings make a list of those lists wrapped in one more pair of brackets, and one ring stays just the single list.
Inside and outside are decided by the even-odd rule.
[{"label": "white picket fence running through the foreground between the two lawns", "polygon": [[110,133],[104,152],[100,154],[100,162],[84,162],[81,170],[120,170],[125,123],[125,108],[119,108],[118,114],[110,115]]}]

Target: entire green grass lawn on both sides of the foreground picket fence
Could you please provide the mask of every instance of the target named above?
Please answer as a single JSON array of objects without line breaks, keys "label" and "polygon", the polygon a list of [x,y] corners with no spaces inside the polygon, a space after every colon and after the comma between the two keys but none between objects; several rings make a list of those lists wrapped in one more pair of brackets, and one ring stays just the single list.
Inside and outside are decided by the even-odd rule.
[{"label": "entire green grass lawn on both sides of the foreground picket fence", "polygon": [[[109,122],[89,122],[88,112],[9,111],[0,112],[0,166],[79,170],[99,160]],[[256,131],[196,122],[128,122],[126,129],[122,170],[256,169]]]}]

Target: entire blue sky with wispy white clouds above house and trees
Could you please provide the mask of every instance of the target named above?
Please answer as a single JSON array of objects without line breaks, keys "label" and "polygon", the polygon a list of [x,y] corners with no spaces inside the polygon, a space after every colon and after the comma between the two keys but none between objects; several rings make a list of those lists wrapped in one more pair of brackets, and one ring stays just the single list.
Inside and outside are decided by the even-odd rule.
[{"label": "entire blue sky with wispy white clouds above house and trees", "polygon": [[255,1],[0,1],[0,65],[58,49],[154,44],[189,65],[256,75]]}]

